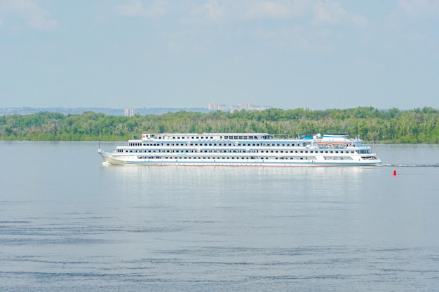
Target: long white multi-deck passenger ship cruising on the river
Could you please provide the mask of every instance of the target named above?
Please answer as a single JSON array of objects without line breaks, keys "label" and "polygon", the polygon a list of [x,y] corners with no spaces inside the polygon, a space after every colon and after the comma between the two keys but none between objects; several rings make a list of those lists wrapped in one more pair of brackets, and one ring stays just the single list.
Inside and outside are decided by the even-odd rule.
[{"label": "long white multi-deck passenger ship cruising on the river", "polygon": [[266,133],[142,134],[113,152],[98,153],[112,165],[358,166],[381,160],[361,139],[346,134],[289,138]]}]

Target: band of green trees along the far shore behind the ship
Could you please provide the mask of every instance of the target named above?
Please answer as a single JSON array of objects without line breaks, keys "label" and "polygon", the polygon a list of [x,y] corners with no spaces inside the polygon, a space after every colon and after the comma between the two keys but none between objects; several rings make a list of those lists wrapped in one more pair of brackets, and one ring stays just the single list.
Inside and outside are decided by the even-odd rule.
[{"label": "band of green trees along the far shore behind the ship", "polygon": [[344,133],[381,143],[439,141],[439,111],[430,107],[400,111],[373,107],[354,109],[267,109],[210,113],[179,111],[163,115],[107,116],[41,112],[0,116],[1,140],[120,141],[142,132],[268,132],[290,137]]}]

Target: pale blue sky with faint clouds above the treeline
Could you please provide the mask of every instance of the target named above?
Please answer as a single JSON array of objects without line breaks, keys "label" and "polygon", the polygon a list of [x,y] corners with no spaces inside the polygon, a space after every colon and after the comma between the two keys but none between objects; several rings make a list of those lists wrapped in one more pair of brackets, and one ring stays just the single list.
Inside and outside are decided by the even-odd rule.
[{"label": "pale blue sky with faint clouds above the treeline", "polygon": [[438,0],[0,0],[0,107],[439,109]]}]

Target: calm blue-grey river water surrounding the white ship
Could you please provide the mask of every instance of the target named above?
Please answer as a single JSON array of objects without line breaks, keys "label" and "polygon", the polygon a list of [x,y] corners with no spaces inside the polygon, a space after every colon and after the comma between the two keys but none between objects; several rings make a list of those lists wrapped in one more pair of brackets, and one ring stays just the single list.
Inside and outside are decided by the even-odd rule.
[{"label": "calm blue-grey river water surrounding the white ship", "polygon": [[0,141],[0,291],[438,291],[439,146],[375,151],[112,167],[97,143]]}]

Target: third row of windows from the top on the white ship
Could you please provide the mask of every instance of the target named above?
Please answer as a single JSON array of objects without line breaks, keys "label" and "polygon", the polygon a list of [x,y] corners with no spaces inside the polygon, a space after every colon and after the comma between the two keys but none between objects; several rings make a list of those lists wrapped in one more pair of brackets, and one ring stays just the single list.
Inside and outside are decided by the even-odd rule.
[{"label": "third row of windows from the top on the white ship", "polygon": [[[259,150],[249,150],[249,151],[245,151],[245,150],[203,150],[203,151],[198,151],[198,150],[184,150],[184,151],[180,151],[180,150],[125,150],[123,151],[123,149],[117,149],[117,152],[119,153],[264,153],[264,150],[259,151]],[[288,151],[283,151],[283,150],[266,150],[265,153],[288,153]],[[355,151],[313,151],[313,150],[301,150],[301,151],[297,151],[297,150],[291,150],[290,153],[355,153]],[[367,152],[365,152],[367,153]]]}]

